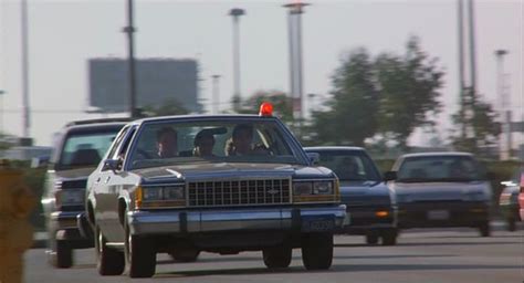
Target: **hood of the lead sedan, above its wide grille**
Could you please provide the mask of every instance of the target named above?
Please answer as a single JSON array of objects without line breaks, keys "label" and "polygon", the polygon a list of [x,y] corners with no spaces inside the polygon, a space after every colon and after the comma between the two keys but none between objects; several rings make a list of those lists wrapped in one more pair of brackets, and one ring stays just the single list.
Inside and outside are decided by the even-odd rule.
[{"label": "hood of the lead sedan, above its wide grille", "polygon": [[260,178],[331,178],[324,167],[285,164],[202,163],[134,170],[145,181]]}]

